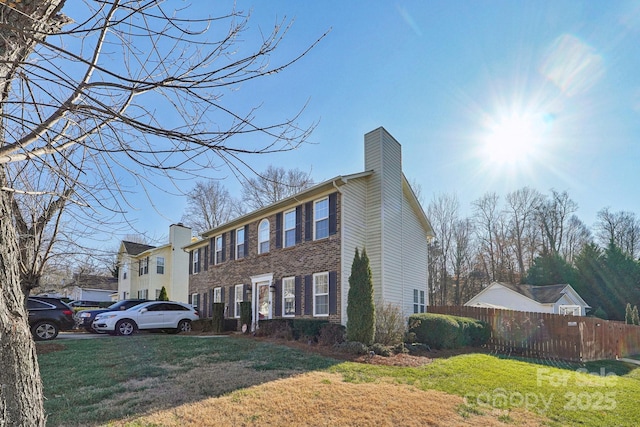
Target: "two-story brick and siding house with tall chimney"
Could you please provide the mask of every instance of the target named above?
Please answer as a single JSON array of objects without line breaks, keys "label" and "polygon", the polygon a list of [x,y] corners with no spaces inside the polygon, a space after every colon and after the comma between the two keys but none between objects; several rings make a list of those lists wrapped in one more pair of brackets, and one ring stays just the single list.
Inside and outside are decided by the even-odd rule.
[{"label": "two-story brick and siding house with tall chimney", "polygon": [[[337,176],[209,230],[188,245],[190,303],[253,319],[318,318],[346,324],[356,248],[366,249],[376,302],[424,312],[433,229],[402,173],[400,144],[365,135],[365,170]],[[253,327],[256,325],[254,324]]]}]

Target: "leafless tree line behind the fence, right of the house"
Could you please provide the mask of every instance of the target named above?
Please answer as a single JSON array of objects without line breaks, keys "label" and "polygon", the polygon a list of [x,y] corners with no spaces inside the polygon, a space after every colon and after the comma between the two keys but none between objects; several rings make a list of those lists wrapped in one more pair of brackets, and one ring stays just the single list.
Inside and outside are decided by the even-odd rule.
[{"label": "leafless tree line behind the fence, right of the house", "polygon": [[585,244],[619,246],[640,256],[640,219],[633,212],[597,214],[593,231],[576,215],[566,192],[523,187],[503,200],[487,193],[460,216],[455,195],[436,195],[427,216],[436,239],[429,247],[430,304],[464,304],[493,281],[524,283],[536,257],[557,254],[572,263]]}]

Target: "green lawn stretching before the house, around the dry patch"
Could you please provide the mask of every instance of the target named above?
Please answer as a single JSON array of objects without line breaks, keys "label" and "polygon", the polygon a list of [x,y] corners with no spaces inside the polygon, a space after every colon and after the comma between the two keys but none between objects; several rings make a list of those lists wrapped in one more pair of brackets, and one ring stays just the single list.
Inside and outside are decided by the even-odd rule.
[{"label": "green lawn stretching before the house, around the dry patch", "polygon": [[59,344],[64,349],[38,357],[50,426],[100,425],[316,370],[347,382],[459,395],[460,413],[524,408],[558,426],[640,423],[640,370],[615,361],[557,367],[468,354],[403,368],[344,363],[250,338],[164,334],[41,346]]}]

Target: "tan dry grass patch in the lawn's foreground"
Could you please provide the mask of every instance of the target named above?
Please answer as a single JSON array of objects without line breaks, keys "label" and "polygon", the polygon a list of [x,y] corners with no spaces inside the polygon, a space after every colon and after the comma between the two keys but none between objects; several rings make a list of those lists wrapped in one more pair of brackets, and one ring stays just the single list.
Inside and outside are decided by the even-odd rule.
[{"label": "tan dry grass patch in the lawn's foreground", "polygon": [[116,426],[539,426],[524,411],[470,408],[459,396],[388,382],[353,384],[311,372]]}]

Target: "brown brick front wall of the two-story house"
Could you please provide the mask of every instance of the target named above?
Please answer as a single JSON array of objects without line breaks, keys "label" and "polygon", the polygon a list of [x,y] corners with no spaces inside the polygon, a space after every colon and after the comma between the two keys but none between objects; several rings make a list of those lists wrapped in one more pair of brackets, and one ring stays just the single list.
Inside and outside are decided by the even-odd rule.
[{"label": "brown brick front wall of the two-story house", "polygon": [[[227,305],[232,301],[230,295],[234,294],[236,285],[245,285],[245,290],[251,287],[251,277],[259,275],[273,275],[273,290],[272,292],[272,317],[282,317],[282,278],[295,276],[299,278],[300,286],[296,288],[296,307],[295,317],[299,318],[313,318],[313,307],[309,307],[309,304],[313,304],[313,295],[308,295],[312,286],[306,285],[305,280],[309,280],[309,276],[314,273],[328,272],[330,277],[329,284],[329,300],[330,300],[330,314],[329,316],[317,317],[322,319],[328,319],[331,322],[339,323],[341,319],[341,284],[340,284],[340,259],[341,259],[341,241],[340,241],[340,211],[341,200],[339,193],[332,193],[333,200],[335,200],[335,229],[331,229],[329,237],[320,240],[306,240],[305,236],[309,233],[308,227],[313,227],[313,221],[305,221],[311,212],[307,212],[312,207],[312,200],[304,203],[298,203],[297,205],[291,204],[284,209],[278,211],[265,212],[265,216],[260,218],[253,218],[250,222],[245,224],[237,224],[233,229],[222,229],[221,233],[211,235],[211,239],[215,239],[218,235],[224,236],[224,252],[225,260],[219,264],[213,265],[211,251],[213,246],[210,240],[207,239],[200,247],[200,268],[195,274],[193,268],[190,269],[189,275],[189,293],[198,293],[199,305],[201,315],[203,317],[210,316],[210,305],[212,303],[213,289],[216,287],[223,287],[224,294],[222,296],[223,302]],[[318,199],[314,199],[318,200]],[[276,241],[282,241],[277,238],[278,230],[276,230],[276,222],[278,214],[282,214],[292,208],[298,208],[300,226],[299,226],[299,242],[294,246],[288,248],[277,248]],[[264,254],[258,254],[258,226],[260,221],[268,219],[270,224],[270,237],[269,246],[270,250]],[[311,215],[311,218],[313,216]],[[230,259],[229,255],[232,254],[235,248],[232,246],[231,237],[235,230],[243,226],[248,225],[245,228],[245,233],[248,232],[246,255],[241,259]],[[282,233],[282,230],[279,230]],[[313,236],[313,233],[310,234]],[[206,245],[205,245],[206,243]],[[205,251],[205,246],[208,247]],[[195,249],[197,250],[197,249]],[[206,253],[206,260],[205,258]],[[233,257],[235,258],[235,257]],[[313,291],[311,291],[313,292]],[[243,292],[244,300],[251,300],[251,292]],[[280,301],[276,301],[276,299]],[[309,314],[310,313],[310,314]],[[233,307],[227,307],[227,317],[233,317]]]}]

